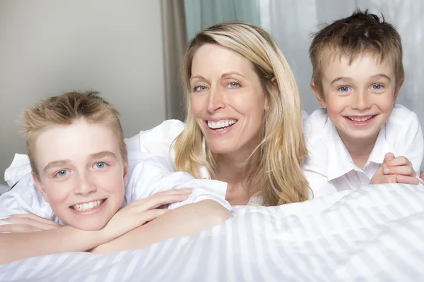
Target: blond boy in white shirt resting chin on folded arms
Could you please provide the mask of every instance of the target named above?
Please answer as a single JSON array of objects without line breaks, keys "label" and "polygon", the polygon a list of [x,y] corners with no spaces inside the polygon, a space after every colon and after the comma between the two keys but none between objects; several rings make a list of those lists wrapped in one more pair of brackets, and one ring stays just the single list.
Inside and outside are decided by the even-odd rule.
[{"label": "blond boy in white shirt resting chin on folded arms", "polygon": [[[0,196],[0,264],[146,247],[232,216],[226,183],[172,173],[159,157],[133,154],[130,161],[139,164],[128,180],[118,112],[95,92],[50,97],[26,109],[23,119],[32,176]],[[207,189],[217,185],[225,187],[220,194]],[[158,209],[164,204],[187,205]]]}]

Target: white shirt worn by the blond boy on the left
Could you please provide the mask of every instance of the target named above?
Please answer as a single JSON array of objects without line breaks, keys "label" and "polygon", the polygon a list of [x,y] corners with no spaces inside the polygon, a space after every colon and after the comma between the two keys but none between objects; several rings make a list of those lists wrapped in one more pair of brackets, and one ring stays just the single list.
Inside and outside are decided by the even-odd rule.
[{"label": "white shirt worn by the blond boy on the left", "polygon": [[[167,208],[175,209],[184,204],[213,200],[232,210],[231,205],[225,200],[227,183],[195,179],[189,173],[175,172],[164,157],[152,156],[146,152],[129,151],[128,159],[129,183],[125,188],[122,207],[157,192],[192,188],[192,194],[187,200],[170,204]],[[28,156],[23,154],[16,154],[11,166],[6,169],[5,180],[9,187],[14,186],[10,191],[0,195],[0,225],[8,224],[1,219],[15,214],[35,214],[65,225],[37,190],[31,171]]]}]

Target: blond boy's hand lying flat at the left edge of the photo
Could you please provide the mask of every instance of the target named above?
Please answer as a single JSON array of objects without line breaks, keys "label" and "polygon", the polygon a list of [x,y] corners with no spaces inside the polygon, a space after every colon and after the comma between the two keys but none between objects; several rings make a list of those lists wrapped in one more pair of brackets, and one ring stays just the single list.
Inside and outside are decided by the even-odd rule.
[{"label": "blond boy's hand lying flat at the left edge of the photo", "polygon": [[0,226],[0,232],[30,233],[61,227],[59,223],[49,219],[43,219],[35,214],[16,214],[6,219],[1,219],[1,221],[7,221],[13,224]]}]

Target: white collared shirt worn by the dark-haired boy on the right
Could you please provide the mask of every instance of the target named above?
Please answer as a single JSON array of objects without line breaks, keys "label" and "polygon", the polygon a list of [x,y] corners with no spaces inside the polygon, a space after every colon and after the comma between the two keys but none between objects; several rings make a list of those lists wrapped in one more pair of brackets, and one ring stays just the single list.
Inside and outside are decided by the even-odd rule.
[{"label": "white collared shirt worn by the dark-haired boy on the right", "polygon": [[[341,141],[334,123],[325,109],[314,111],[305,119],[308,156],[303,172],[310,183],[314,197],[341,190],[355,190],[370,183],[382,165],[385,154],[404,156],[411,161],[417,176],[424,157],[424,140],[418,116],[406,107],[395,104],[375,142],[363,169],[353,163],[351,155]],[[420,185],[423,185],[420,182]]]}]

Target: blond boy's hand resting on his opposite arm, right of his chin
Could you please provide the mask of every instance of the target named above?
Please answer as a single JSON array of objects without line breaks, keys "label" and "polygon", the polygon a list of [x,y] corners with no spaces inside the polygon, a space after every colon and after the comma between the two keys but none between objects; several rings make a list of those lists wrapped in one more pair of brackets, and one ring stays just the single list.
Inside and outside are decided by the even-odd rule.
[{"label": "blond boy's hand resting on his opposite arm, right of his chin", "polygon": [[165,204],[187,200],[191,189],[172,189],[158,192],[142,200],[131,202],[120,209],[102,229],[107,241],[118,238],[125,233],[142,226],[153,219],[169,212],[169,209],[158,209]]}]

